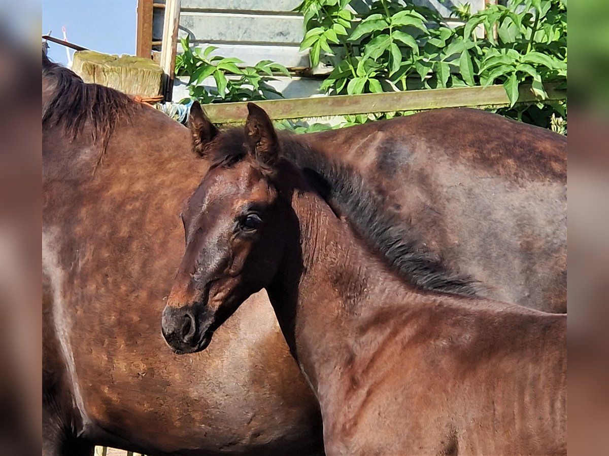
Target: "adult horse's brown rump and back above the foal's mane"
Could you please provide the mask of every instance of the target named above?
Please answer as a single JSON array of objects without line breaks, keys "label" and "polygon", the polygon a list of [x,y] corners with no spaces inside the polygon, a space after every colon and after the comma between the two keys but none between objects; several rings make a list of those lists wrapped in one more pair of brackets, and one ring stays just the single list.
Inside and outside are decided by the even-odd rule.
[{"label": "adult horse's brown rump and back above the foal's mane", "polygon": [[566,312],[565,137],[437,109],[299,139],[365,176],[486,297]]}]

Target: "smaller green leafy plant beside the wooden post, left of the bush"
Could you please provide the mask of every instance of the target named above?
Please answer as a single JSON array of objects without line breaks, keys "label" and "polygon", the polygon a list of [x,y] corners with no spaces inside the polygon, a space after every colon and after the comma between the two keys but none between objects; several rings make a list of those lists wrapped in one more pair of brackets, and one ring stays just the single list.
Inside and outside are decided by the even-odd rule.
[{"label": "smaller green leafy plant beside the wooden post, left of the bush", "polygon": [[[241,102],[281,98],[280,92],[269,84],[274,74],[289,76],[286,67],[270,60],[262,60],[255,66],[243,66],[236,57],[211,56],[218,49],[191,47],[188,37],[180,40],[183,52],[175,59],[175,72],[188,77],[188,92],[203,103]],[[213,77],[216,86],[205,86],[203,81]],[[187,102],[187,100],[182,100]]]}]

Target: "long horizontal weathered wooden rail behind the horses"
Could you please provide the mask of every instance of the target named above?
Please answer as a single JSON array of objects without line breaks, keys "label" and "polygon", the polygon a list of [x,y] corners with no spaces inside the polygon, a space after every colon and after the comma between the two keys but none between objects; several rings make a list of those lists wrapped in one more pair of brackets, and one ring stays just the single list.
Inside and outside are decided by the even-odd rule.
[{"label": "long horizontal weathered wooden rail behind the horses", "polygon": [[[564,100],[566,90],[547,85],[550,100]],[[536,100],[530,86],[519,91],[519,103]],[[387,92],[382,94],[337,95],[334,97],[292,98],[256,102],[272,119],[343,116],[368,112],[423,111],[463,106],[509,106],[503,86],[460,87],[451,89]],[[205,112],[215,123],[239,123],[247,117],[247,102],[205,105]]]}]

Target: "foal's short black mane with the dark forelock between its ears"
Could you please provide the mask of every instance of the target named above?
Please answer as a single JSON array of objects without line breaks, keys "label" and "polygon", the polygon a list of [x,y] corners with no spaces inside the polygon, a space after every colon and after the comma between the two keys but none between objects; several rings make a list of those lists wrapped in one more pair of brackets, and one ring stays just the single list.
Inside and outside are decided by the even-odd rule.
[{"label": "foal's short black mane with the dark forelock between its ears", "polygon": [[[423,291],[476,297],[474,280],[450,271],[426,248],[412,226],[391,212],[382,195],[346,164],[331,161],[306,140],[281,134],[281,153],[335,212],[345,216],[368,246],[375,249],[401,278]],[[242,128],[219,134],[210,144],[213,167],[230,167],[247,155]]]}]

